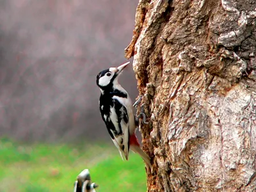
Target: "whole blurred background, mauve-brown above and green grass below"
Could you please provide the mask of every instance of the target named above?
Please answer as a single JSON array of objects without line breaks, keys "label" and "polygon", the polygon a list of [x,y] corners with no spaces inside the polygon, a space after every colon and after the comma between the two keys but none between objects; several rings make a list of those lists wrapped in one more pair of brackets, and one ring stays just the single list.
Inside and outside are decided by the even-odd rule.
[{"label": "whole blurred background, mauve-brown above and green grass below", "polygon": [[[145,191],[140,157],[131,156],[133,165],[123,162],[113,148],[95,83],[101,70],[127,61],[124,49],[132,38],[137,4],[0,1],[0,191],[72,191],[84,168],[99,191],[127,186]],[[120,83],[134,100],[132,67]],[[104,169],[112,173],[97,177]],[[129,177],[132,169],[138,178],[120,186],[120,177]],[[107,177],[118,184],[111,186]]]}]

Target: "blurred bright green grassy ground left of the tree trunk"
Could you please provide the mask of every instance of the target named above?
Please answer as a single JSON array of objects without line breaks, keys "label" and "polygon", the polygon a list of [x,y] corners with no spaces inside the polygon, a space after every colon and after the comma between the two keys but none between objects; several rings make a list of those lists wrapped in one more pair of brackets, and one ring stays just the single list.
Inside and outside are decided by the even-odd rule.
[{"label": "blurred bright green grassy ground left of the tree trunk", "polygon": [[131,153],[122,161],[116,148],[103,145],[25,145],[0,140],[0,191],[72,191],[88,168],[97,191],[146,191],[143,161]]}]

